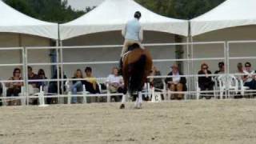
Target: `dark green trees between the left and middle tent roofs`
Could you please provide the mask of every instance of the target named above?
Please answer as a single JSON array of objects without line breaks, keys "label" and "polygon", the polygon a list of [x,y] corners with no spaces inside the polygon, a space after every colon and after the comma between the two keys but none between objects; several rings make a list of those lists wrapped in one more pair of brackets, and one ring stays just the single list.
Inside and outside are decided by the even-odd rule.
[{"label": "dark green trees between the left and middle tent roofs", "polygon": [[4,2],[24,14],[48,22],[69,22],[86,13],[86,11],[72,10],[67,2],[62,0],[4,0]]}]

